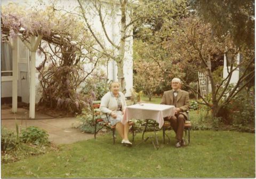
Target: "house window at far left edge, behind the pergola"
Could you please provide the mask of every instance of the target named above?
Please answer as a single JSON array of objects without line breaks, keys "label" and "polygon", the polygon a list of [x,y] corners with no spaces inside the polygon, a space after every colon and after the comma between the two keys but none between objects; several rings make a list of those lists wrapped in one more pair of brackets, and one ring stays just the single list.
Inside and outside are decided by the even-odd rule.
[{"label": "house window at far left edge, behind the pergola", "polygon": [[12,76],[12,47],[1,42],[1,76]]}]

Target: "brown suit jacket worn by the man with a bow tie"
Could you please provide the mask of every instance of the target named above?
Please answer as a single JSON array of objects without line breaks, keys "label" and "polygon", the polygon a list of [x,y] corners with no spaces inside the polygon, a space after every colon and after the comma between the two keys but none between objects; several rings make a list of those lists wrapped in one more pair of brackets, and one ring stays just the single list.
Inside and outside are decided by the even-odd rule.
[{"label": "brown suit jacket worn by the man with a bow tie", "polygon": [[[174,105],[173,102],[173,90],[166,91],[163,94],[161,104],[167,104],[167,105]],[[177,103],[176,108],[180,108],[181,112],[186,118],[187,116],[187,110],[189,110],[189,96],[188,92],[179,90],[178,96],[177,96]]]}]

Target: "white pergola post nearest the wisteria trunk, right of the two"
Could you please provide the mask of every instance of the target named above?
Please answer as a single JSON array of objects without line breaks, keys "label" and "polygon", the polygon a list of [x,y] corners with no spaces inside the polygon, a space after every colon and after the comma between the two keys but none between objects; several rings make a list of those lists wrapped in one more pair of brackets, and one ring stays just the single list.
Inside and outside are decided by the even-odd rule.
[{"label": "white pergola post nearest the wisteria trunk, right of the two", "polygon": [[[30,44],[33,46],[36,42],[36,37],[33,36],[30,39]],[[30,51],[30,88],[29,88],[29,118],[35,118],[35,102],[36,102],[36,52]]]}]

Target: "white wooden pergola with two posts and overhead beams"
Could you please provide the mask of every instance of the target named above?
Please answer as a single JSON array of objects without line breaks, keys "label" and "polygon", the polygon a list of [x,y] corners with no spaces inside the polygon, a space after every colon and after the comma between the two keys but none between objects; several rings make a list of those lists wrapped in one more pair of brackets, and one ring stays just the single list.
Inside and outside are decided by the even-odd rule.
[{"label": "white wooden pergola with two posts and overhead beams", "polygon": [[28,50],[30,51],[30,61],[29,61],[29,71],[30,71],[30,94],[29,94],[29,118],[35,118],[35,91],[36,91],[36,51],[38,49],[38,45],[41,43],[41,40],[45,40],[54,45],[63,45],[69,44],[72,45],[71,41],[65,40],[56,34],[49,35],[39,35],[37,33],[27,34],[25,30],[21,27],[19,33],[9,38],[10,36],[10,28],[5,27],[2,23],[1,31],[3,34],[3,39],[5,39],[12,47],[12,56],[13,56],[13,76],[12,76],[12,112],[17,112],[18,108],[18,38],[21,40],[23,44],[26,45]]}]

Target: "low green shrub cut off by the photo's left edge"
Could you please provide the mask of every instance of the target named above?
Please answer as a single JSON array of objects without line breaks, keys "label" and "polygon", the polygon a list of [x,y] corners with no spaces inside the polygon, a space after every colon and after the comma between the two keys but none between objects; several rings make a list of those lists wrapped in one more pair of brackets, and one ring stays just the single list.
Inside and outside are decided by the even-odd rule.
[{"label": "low green shrub cut off by the photo's left edge", "polygon": [[1,151],[11,151],[18,148],[19,141],[13,131],[1,128]]}]

